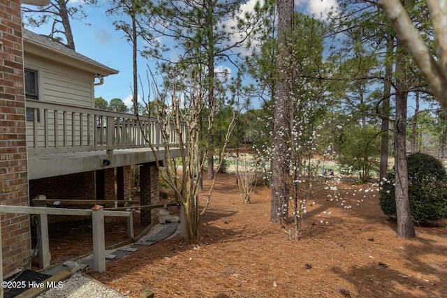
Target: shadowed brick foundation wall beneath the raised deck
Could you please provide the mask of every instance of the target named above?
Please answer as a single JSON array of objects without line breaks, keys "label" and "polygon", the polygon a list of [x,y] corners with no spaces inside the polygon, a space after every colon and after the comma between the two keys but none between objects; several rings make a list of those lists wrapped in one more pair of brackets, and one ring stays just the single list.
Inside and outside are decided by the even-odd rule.
[{"label": "shadowed brick foundation wall beneath the raised deck", "polygon": [[49,200],[95,200],[95,173],[82,172],[29,181],[29,198],[45,195]]}]

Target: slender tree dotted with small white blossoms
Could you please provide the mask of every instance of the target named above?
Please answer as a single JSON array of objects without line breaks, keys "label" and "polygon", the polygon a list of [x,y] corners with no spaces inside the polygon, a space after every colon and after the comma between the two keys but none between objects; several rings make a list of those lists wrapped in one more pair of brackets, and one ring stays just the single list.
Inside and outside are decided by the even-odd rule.
[{"label": "slender tree dotted with small white blossoms", "polygon": [[[295,14],[293,33],[284,37],[287,55],[278,59],[278,81],[287,94],[277,86],[274,109],[274,144],[260,149],[270,154],[272,161],[271,220],[295,223],[295,239],[299,239],[306,204],[319,186],[319,161],[314,159],[319,131],[325,125],[330,103],[323,63],[325,26],[312,17]],[[281,45],[279,45],[281,48]],[[284,80],[284,82],[281,82]],[[281,91],[281,92],[283,92]],[[283,97],[284,96],[284,97]],[[281,125],[280,125],[281,124]],[[323,146],[327,147],[327,146]],[[289,214],[289,203],[292,212]]]}]

